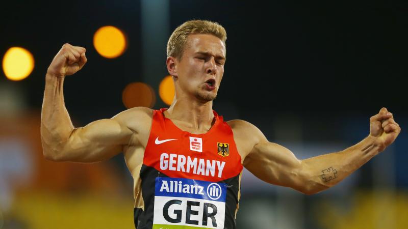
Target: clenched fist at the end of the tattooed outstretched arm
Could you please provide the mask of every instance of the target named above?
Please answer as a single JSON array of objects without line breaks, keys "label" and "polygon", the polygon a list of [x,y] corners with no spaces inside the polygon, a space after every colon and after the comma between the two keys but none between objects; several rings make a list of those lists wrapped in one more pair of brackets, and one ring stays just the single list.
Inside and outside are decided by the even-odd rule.
[{"label": "clenched fist at the end of the tattooed outstretched arm", "polygon": [[394,121],[394,117],[387,108],[382,107],[377,115],[370,118],[370,135],[376,137],[376,143],[380,146],[380,151],[388,147],[398,134],[401,128]]}]

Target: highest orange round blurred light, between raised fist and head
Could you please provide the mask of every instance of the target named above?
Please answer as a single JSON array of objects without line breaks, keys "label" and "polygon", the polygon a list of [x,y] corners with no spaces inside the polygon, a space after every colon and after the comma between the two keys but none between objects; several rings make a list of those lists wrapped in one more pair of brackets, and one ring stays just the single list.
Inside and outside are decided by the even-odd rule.
[{"label": "highest orange round blurred light, between raised fist and head", "polygon": [[93,46],[101,56],[117,58],[126,49],[126,37],[117,27],[103,26],[95,32]]}]

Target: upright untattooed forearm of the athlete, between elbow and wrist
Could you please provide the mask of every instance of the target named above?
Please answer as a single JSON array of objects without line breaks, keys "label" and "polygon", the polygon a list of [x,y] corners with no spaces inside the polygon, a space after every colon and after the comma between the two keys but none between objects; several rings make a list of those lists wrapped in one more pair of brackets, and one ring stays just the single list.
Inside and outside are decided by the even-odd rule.
[{"label": "upright untattooed forearm of the athlete, between elbow and wrist", "polygon": [[47,74],[41,111],[41,141],[44,156],[60,152],[74,129],[64,103],[64,77]]}]

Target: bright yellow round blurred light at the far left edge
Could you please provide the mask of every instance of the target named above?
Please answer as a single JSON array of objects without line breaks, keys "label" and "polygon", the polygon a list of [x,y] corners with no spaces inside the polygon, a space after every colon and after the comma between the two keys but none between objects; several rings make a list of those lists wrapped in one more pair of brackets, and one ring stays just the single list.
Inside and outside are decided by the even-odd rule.
[{"label": "bright yellow round blurred light at the far left edge", "polygon": [[27,78],[34,69],[34,58],[30,51],[21,47],[12,47],[3,57],[3,71],[10,80]]}]

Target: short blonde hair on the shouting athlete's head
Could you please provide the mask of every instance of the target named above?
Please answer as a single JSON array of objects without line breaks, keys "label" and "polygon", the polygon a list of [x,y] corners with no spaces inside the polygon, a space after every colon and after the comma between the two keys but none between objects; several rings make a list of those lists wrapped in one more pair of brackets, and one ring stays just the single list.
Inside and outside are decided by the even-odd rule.
[{"label": "short blonde hair on the shouting athlete's head", "polygon": [[225,45],[225,28],[217,22],[207,20],[186,21],[177,27],[167,42],[167,58],[174,56],[181,60],[186,48],[187,37],[191,34],[212,34],[218,37]]}]

